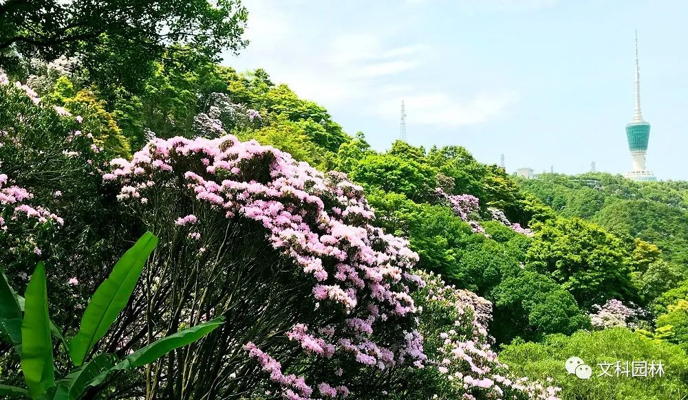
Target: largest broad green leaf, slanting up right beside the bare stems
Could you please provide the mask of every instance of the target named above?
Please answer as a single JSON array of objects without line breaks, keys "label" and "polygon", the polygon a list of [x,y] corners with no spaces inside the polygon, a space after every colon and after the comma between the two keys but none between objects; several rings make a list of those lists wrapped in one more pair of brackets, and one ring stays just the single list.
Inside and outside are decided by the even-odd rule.
[{"label": "largest broad green leaf, slanting up right beside the bare stems", "polygon": [[69,353],[74,365],[80,366],[89,351],[127,306],[129,297],[146,263],[146,259],[158,245],[158,238],[146,232],[136,244],[118,260],[110,276],[98,287],[81,318],[79,332],[70,344]]}]

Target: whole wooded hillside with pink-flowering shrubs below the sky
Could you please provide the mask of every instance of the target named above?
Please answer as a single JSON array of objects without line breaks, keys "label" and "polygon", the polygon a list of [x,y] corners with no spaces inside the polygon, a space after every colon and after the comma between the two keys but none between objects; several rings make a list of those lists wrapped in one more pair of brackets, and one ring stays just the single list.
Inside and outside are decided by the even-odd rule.
[{"label": "whole wooded hillside with pink-flowering shrubs below the sky", "polygon": [[[136,85],[69,57],[118,65],[98,37],[2,64],[1,395],[688,394],[688,184],[517,179],[460,142],[379,151],[213,46],[161,43]],[[89,300],[147,231],[157,247],[131,297],[78,350]],[[54,324],[52,342],[22,318]],[[150,350],[178,333],[193,340]],[[664,373],[579,379],[572,356]]]}]

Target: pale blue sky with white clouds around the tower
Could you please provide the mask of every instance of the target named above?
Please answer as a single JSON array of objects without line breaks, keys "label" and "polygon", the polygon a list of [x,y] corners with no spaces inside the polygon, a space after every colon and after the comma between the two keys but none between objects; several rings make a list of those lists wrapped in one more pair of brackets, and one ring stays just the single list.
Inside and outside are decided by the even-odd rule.
[{"label": "pale blue sky with white clouds around the tower", "polygon": [[625,173],[638,30],[647,167],[688,179],[688,1],[244,0],[247,37],[224,64],[263,67],[378,150],[465,146],[540,172]]}]

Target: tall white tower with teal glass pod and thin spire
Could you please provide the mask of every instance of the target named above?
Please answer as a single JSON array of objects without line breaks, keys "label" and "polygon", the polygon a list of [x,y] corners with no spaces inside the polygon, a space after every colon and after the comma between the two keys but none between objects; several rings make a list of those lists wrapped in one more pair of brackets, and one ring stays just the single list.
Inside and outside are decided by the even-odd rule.
[{"label": "tall white tower with teal glass pod and thin spire", "polygon": [[633,169],[626,173],[628,179],[634,181],[656,181],[652,171],[645,166],[647,143],[649,142],[649,122],[643,120],[641,112],[641,73],[638,67],[638,32],[636,32],[636,81],[635,81],[635,111],[633,121],[626,124],[626,139],[628,150],[633,159]]}]

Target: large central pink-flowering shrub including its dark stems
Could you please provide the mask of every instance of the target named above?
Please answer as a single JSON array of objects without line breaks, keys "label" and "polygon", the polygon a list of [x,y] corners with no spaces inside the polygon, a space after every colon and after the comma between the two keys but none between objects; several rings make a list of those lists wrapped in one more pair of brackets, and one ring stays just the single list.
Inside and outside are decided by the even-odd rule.
[{"label": "large central pink-flowering shrub including its dark stems", "polygon": [[[423,282],[409,274],[418,256],[405,240],[370,224],[374,213],[363,198],[363,188],[345,175],[323,175],[308,164],[294,162],[288,153],[255,141],[239,142],[231,135],[154,140],[131,162],[114,159],[111,165],[116,168],[103,179],[118,184],[118,199],[160,230],[161,242],[184,241],[183,249],[171,249],[170,254],[193,252],[195,263],[198,258],[204,263],[199,270],[217,271],[214,279],[226,280],[225,286],[218,285],[217,297],[211,302],[200,299],[206,302],[199,307],[227,315],[245,307],[252,299],[240,288],[237,292],[237,284],[225,274],[250,276],[255,273],[252,268],[269,274],[254,276],[255,281],[248,278],[246,290],[254,293],[251,296],[268,296],[270,291],[296,294],[279,303],[281,317],[275,320],[265,304],[255,304],[259,311],[253,315],[265,320],[255,329],[270,335],[253,333],[255,329],[228,318],[230,327],[224,332],[234,329],[228,337],[241,342],[246,353],[244,359],[226,360],[222,369],[254,375],[248,367],[259,366],[269,384],[250,390],[263,388],[288,399],[343,397],[353,391],[347,381],[356,378],[350,375],[359,370],[422,367],[426,357],[422,337],[414,328],[417,310],[411,293]],[[238,256],[251,251],[247,243],[227,244],[228,238],[250,235],[252,245],[259,245],[255,241],[262,236],[279,256],[275,258],[275,263],[281,260],[279,272],[270,273],[271,252],[266,247],[257,249],[260,256],[251,256],[255,259]],[[211,252],[217,255],[206,258]],[[218,263],[221,256],[224,259]],[[163,273],[162,265],[155,270]],[[270,281],[268,289],[261,281],[268,278],[279,280]],[[165,282],[162,276],[160,280]],[[188,284],[180,280],[180,285]],[[233,291],[228,293],[230,288]],[[259,289],[268,293],[258,293]],[[199,300],[189,294],[191,300]],[[182,304],[189,307],[180,302],[170,308]],[[236,353],[231,343],[227,346],[225,353]],[[207,368],[197,368],[198,376],[189,379],[204,377]],[[247,383],[244,376],[243,384]],[[177,384],[184,382],[167,382]]]}]

